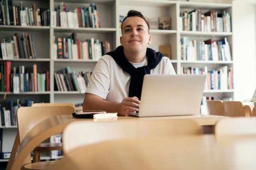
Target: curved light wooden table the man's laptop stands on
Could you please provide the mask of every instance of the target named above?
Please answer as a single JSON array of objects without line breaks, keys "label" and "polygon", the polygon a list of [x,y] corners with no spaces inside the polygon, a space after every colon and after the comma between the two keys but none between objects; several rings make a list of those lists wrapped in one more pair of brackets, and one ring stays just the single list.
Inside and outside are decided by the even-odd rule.
[{"label": "curved light wooden table the man's laptop stands on", "polygon": [[[194,119],[200,124],[203,129],[210,131],[219,119],[230,119],[229,117],[215,116],[215,115],[187,115],[187,116],[168,116],[168,117],[132,117],[119,116],[118,121],[127,120],[147,120],[147,119]],[[32,128],[20,144],[17,157],[11,167],[11,170],[18,170],[22,167],[22,163],[38,144],[48,139],[52,135],[63,132],[65,126],[72,121],[95,121],[95,119],[81,119],[72,117],[72,115],[59,115],[46,119],[34,128]],[[205,131],[205,130],[204,130]]]}]

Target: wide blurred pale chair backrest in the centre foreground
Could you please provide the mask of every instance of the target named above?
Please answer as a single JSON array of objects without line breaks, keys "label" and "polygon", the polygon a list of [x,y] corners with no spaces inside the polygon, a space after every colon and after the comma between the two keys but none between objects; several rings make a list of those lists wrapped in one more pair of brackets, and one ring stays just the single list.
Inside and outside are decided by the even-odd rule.
[{"label": "wide blurred pale chair backrest in the centre foreground", "polygon": [[65,156],[76,147],[112,139],[202,134],[192,119],[73,122],[63,131]]}]

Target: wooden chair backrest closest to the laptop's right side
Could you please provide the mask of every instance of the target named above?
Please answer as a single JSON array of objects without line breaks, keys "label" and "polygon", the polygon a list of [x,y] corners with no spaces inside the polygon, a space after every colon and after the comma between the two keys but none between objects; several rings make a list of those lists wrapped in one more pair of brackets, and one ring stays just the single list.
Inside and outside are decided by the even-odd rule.
[{"label": "wooden chair backrest closest to the laptop's right side", "polygon": [[206,106],[209,115],[225,116],[225,109],[222,100],[207,100]]}]

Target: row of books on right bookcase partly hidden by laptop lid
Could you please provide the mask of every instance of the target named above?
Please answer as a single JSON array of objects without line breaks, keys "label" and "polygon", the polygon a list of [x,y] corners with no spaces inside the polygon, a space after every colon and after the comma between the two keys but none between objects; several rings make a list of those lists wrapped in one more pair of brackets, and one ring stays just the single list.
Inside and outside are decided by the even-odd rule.
[{"label": "row of books on right bookcase partly hidden by laptop lid", "polygon": [[205,90],[227,90],[233,89],[233,68],[221,66],[216,69],[208,70],[198,67],[181,67],[181,74],[206,74]]}]

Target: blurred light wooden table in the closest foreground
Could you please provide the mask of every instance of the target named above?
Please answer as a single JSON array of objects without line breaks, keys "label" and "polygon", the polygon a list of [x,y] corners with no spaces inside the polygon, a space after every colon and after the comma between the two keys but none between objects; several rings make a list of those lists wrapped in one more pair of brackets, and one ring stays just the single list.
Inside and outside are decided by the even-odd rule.
[{"label": "blurred light wooden table in the closest foreground", "polygon": [[105,141],[76,148],[48,170],[255,170],[256,135]]}]

